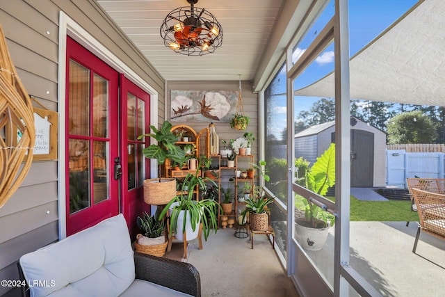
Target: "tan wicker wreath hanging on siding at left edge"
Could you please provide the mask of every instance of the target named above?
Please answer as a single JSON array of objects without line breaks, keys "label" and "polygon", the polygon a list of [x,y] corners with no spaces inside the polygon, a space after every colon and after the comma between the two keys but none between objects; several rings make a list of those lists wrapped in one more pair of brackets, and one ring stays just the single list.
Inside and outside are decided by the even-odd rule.
[{"label": "tan wicker wreath hanging on siding at left edge", "polygon": [[0,207],[29,172],[34,141],[31,99],[11,61],[0,26]]}]

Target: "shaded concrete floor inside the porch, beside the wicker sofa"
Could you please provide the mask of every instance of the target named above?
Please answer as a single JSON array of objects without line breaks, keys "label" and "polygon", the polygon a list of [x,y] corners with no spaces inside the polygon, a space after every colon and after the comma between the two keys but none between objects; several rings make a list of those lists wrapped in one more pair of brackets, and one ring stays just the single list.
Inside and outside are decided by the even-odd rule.
[{"label": "shaded concrete floor inside the porch, beside the wicker sofa", "polygon": [[[249,238],[238,239],[234,232],[218,230],[203,241],[202,250],[196,240],[188,244],[188,259],[182,260],[200,272],[202,296],[298,297],[266,235],[254,236],[252,250]],[[178,257],[182,250],[182,243],[173,243],[167,257]]]}]

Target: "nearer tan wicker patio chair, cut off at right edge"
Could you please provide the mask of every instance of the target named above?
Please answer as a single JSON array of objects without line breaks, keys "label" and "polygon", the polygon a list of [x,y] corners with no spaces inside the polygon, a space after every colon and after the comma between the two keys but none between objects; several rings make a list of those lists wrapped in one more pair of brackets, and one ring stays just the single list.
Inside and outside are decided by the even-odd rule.
[{"label": "nearer tan wicker patio chair, cut off at right edge", "polygon": [[420,221],[412,248],[416,252],[421,232],[445,240],[445,179],[410,179],[407,183]]}]

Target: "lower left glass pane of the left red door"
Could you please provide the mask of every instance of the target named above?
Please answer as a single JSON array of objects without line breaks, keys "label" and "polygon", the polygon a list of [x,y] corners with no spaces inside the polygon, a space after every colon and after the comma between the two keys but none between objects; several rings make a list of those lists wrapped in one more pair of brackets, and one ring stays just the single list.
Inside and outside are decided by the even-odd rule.
[{"label": "lower left glass pane of the left red door", "polygon": [[88,141],[70,139],[70,214],[90,207],[90,159]]}]

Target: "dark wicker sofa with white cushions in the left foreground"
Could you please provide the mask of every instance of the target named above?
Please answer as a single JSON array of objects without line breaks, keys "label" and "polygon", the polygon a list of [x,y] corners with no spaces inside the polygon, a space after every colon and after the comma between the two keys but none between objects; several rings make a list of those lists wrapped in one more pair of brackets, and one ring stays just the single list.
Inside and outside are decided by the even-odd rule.
[{"label": "dark wicker sofa with white cushions in the left foreground", "polygon": [[133,252],[122,214],[23,255],[23,296],[201,296],[188,263]]}]

